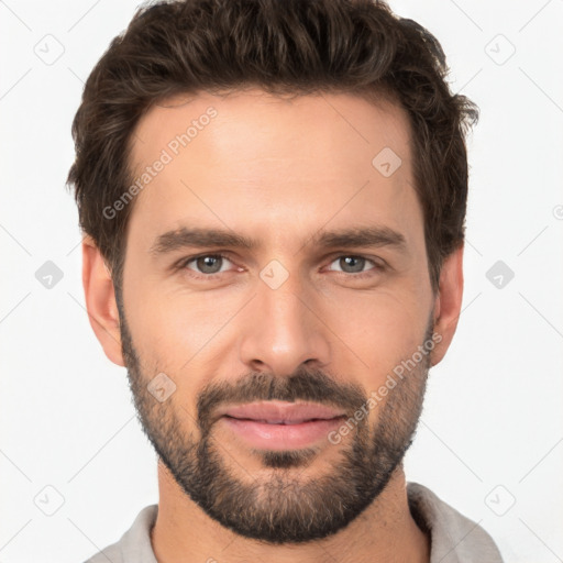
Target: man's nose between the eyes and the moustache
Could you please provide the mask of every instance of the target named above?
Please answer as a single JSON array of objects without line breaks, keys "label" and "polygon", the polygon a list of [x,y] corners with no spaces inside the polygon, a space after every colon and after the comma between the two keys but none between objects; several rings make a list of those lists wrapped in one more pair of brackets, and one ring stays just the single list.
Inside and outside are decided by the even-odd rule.
[{"label": "man's nose between the eyes and the moustache", "polygon": [[327,321],[297,276],[278,288],[260,282],[241,324],[241,361],[252,371],[291,375],[301,364],[320,368],[331,362]]}]

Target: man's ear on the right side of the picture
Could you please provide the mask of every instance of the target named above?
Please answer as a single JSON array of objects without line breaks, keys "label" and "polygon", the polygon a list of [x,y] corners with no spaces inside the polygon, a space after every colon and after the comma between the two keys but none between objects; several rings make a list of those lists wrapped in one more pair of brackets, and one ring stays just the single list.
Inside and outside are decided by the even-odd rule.
[{"label": "man's ear on the right side of the picture", "polygon": [[457,320],[460,318],[463,299],[463,243],[448,256],[440,272],[440,287],[434,302],[434,333],[441,340],[431,355],[431,365],[442,361],[450,347]]}]

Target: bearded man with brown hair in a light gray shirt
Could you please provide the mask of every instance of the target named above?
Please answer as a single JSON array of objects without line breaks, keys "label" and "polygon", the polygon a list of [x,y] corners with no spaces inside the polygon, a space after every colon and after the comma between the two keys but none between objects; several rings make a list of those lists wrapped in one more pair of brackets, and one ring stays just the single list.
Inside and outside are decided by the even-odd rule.
[{"label": "bearded man with brown hair in a light gray shirt", "polygon": [[112,42],[68,179],[159,503],[89,561],[501,561],[402,470],[463,292],[445,74],[366,0],[157,3]]}]

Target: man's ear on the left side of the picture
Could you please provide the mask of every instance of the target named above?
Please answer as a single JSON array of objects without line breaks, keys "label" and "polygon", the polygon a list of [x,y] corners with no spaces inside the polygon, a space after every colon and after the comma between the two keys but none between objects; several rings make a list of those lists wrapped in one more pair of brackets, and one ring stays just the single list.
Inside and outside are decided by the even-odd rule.
[{"label": "man's ear on the left side of the picture", "polygon": [[90,325],[103,352],[114,364],[125,366],[121,352],[119,313],[111,274],[90,236],[82,241],[82,285]]}]

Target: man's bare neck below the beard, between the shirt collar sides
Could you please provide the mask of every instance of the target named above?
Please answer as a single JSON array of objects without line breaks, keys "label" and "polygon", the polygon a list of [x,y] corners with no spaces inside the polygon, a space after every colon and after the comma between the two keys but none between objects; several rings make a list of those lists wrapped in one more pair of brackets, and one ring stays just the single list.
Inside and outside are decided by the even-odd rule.
[{"label": "man's bare neck below the beard, between the shirt collar sides", "polygon": [[430,542],[409,510],[402,466],[369,507],[346,528],[306,544],[272,545],[236,536],[211,519],[158,462],[158,516],[151,532],[158,562],[428,563]]}]

